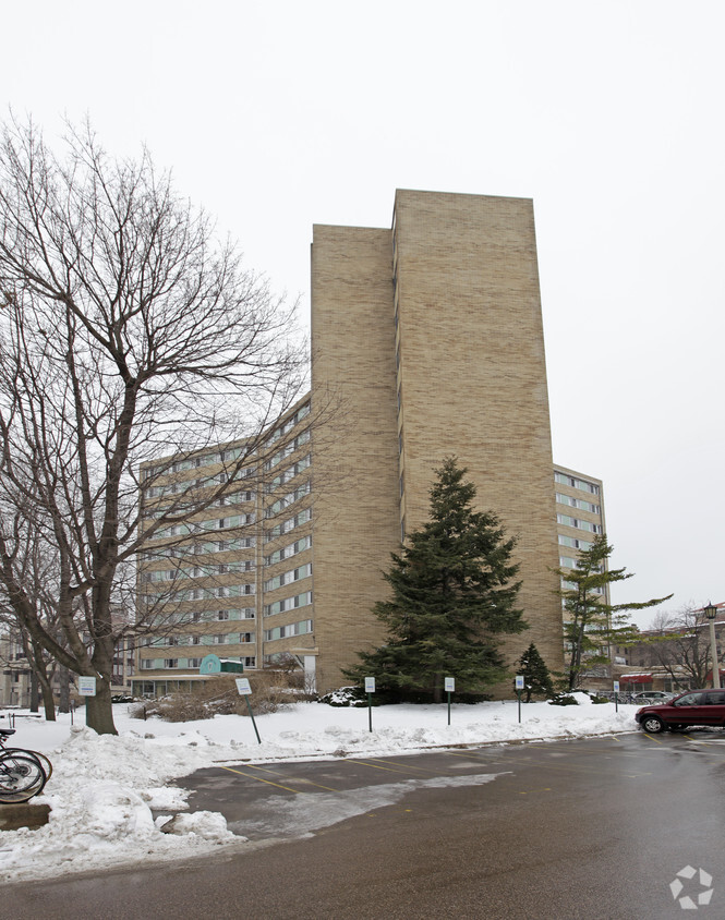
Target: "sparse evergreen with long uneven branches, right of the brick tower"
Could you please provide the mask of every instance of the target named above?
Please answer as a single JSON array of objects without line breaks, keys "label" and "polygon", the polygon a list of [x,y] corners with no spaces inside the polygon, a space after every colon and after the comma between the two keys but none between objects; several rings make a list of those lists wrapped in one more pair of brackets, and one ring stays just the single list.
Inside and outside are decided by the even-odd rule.
[{"label": "sparse evergreen with long uneven branches, right of the brick tower", "polygon": [[629,622],[629,610],[655,607],[672,597],[668,594],[640,603],[607,604],[607,586],[633,574],[624,568],[607,569],[612,549],[606,535],[600,534],[589,549],[579,553],[575,569],[555,570],[561,579],[557,594],[565,610],[569,690],[579,686],[587,670],[611,663],[611,645],[633,645],[639,641],[639,630]]}]

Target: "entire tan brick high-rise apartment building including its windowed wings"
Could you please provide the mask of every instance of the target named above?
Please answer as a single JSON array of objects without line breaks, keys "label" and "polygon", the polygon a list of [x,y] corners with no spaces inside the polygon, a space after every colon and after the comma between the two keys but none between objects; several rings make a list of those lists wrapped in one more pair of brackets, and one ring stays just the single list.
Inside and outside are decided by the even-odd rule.
[{"label": "entire tan brick high-rise apartment building including its windowed wings", "polygon": [[[319,414],[326,421],[311,432]],[[576,485],[555,483],[585,477],[555,473],[552,459],[532,202],[399,191],[390,229],[315,226],[311,395],[269,433],[254,488],[231,496],[233,513],[207,509],[180,543],[174,534],[171,567],[159,557],[171,535],[154,541],[141,594],[153,600],[154,579],[174,580],[178,629],[159,641],[176,657],[144,646],[136,690],[192,681],[202,651],[253,667],[291,654],[317,689],[339,686],[357,652],[384,639],[371,613],[386,596],[382,570],[425,521],[447,456],[467,468],[478,508],[517,537],[531,628],[507,641],[507,659],[534,641],[559,670],[554,570],[576,555],[560,534],[577,524],[561,517],[557,525],[557,512],[600,518],[568,501],[578,500]],[[169,464],[154,488],[161,495],[174,476],[207,488],[223,475],[223,457],[185,458],[189,469],[176,472]],[[244,601],[220,602],[232,596]]]}]

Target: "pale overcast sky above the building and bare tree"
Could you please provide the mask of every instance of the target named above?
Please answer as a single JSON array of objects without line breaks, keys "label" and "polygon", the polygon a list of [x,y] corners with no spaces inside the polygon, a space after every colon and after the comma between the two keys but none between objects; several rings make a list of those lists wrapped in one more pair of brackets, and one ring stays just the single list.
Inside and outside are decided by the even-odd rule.
[{"label": "pale overcast sky above the building and bare tree", "polygon": [[[146,143],[309,311],[313,223],[396,187],[534,199],[554,459],[616,601],[725,600],[722,0],[4,4],[5,111]],[[649,616],[641,619],[647,622]]]}]

